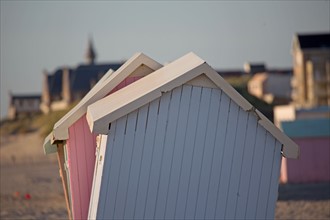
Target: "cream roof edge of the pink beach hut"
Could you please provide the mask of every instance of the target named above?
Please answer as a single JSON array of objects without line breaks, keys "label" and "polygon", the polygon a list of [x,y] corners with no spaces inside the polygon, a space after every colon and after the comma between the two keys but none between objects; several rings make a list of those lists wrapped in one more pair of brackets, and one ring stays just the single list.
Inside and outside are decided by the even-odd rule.
[{"label": "cream roof edge of the pink beach hut", "polygon": [[162,67],[161,64],[143,53],[136,53],[117,71],[109,70],[86,96],[54,125],[54,140],[67,140],[69,138],[68,128],[86,113],[88,105],[106,96],[128,76],[141,75],[141,70],[138,69],[142,66],[148,67],[142,71],[144,75]]}]

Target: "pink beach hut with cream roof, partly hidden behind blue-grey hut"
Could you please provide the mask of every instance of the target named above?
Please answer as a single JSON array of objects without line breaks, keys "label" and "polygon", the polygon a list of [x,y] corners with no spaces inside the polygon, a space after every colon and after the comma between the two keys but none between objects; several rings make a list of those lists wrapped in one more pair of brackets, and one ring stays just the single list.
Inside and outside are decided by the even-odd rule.
[{"label": "pink beach hut with cream roof, partly hidden behind blue-grey hut", "polygon": [[[58,153],[69,216],[87,219],[95,166],[96,134],[88,129],[87,106],[157,70],[161,64],[142,53],[135,54],[116,72],[109,71],[53,128],[45,153]],[[65,172],[66,171],[66,172]]]}]

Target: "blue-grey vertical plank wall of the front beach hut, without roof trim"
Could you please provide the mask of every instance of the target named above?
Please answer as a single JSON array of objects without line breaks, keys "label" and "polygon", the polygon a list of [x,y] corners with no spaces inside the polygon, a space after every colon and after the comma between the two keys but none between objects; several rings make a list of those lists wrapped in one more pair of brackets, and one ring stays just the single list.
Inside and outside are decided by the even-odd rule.
[{"label": "blue-grey vertical plank wall of the front beach hut, without roof trim", "polygon": [[280,162],[253,112],[179,86],[111,123],[94,217],[274,218]]}]

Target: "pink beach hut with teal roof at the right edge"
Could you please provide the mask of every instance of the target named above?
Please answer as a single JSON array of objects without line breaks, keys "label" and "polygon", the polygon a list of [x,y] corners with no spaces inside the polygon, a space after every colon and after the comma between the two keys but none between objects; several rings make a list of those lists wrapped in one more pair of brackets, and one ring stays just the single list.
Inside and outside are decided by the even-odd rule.
[{"label": "pink beach hut with teal roof at the right edge", "polygon": [[330,119],[296,119],[281,123],[283,132],[299,144],[299,160],[283,160],[283,183],[330,182]]}]

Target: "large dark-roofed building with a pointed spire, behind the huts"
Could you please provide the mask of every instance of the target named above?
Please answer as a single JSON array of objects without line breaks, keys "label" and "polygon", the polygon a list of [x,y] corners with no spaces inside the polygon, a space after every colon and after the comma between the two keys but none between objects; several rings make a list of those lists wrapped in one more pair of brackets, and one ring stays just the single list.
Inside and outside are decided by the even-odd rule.
[{"label": "large dark-roofed building with a pointed spire, behind the huts", "polygon": [[75,68],[60,67],[53,73],[44,72],[42,85],[42,112],[67,108],[82,99],[96,82],[109,70],[117,70],[122,62],[97,64],[91,39],[85,54],[85,63]]}]

